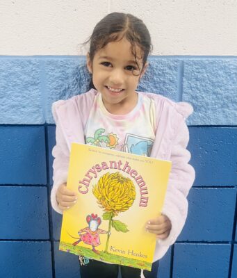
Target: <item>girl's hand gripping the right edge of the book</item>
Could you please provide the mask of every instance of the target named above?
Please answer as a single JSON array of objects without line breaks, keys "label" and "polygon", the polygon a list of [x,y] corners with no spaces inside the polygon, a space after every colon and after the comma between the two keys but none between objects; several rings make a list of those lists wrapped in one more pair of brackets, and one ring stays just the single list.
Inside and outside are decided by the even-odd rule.
[{"label": "girl's hand gripping the right edge of the book", "polygon": [[146,225],[147,231],[152,234],[156,234],[156,238],[165,239],[169,236],[171,230],[170,219],[166,215],[158,216],[152,220],[149,220]]}]

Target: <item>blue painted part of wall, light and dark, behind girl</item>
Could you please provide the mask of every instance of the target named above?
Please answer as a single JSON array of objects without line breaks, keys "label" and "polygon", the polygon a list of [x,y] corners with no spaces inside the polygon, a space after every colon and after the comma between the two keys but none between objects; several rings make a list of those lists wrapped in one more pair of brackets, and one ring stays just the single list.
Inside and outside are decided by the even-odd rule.
[{"label": "blue painted part of wall, light and dark, behind girl", "polygon": [[[151,57],[139,90],[189,101],[197,178],[188,220],[161,260],[162,278],[237,277],[237,58]],[[52,211],[51,103],[88,90],[85,58],[0,56],[1,277],[76,278],[76,256],[58,251]]]}]

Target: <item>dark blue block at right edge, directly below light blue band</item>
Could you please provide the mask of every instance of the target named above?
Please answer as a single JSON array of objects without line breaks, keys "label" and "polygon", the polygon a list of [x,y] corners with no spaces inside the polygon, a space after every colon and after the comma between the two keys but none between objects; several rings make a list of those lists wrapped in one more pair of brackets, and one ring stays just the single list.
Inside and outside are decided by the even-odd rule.
[{"label": "dark blue block at right edge, directly below light blue band", "polygon": [[190,164],[196,171],[195,186],[236,186],[237,129],[190,127]]}]

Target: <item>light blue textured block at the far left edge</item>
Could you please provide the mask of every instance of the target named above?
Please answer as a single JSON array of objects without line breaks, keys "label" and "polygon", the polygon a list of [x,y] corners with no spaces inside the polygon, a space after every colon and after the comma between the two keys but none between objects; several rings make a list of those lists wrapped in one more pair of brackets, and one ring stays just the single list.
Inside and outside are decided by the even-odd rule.
[{"label": "light blue textured block at the far left edge", "polygon": [[40,60],[1,58],[0,124],[43,124]]}]

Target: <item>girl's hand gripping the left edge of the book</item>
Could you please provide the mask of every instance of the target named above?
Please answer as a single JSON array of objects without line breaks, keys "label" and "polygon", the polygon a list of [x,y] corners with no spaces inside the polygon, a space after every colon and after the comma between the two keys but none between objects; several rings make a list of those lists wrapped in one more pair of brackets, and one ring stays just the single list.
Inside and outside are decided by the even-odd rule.
[{"label": "girl's hand gripping the left edge of the book", "polygon": [[71,208],[76,203],[77,197],[74,191],[67,188],[67,183],[63,183],[58,187],[56,193],[56,200],[58,202],[58,207],[65,211]]}]

